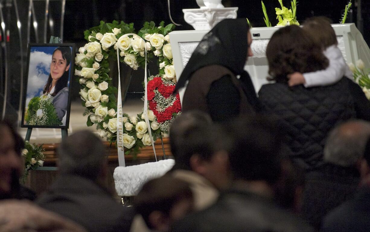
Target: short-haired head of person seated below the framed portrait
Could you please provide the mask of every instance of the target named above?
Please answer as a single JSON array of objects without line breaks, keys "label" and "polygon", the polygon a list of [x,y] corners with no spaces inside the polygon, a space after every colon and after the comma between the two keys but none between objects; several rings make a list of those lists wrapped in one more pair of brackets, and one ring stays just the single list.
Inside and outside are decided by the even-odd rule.
[{"label": "short-haired head of person seated below the framed portrait", "polygon": [[97,180],[105,164],[102,141],[88,130],[72,134],[58,147],[61,174],[78,175]]}]

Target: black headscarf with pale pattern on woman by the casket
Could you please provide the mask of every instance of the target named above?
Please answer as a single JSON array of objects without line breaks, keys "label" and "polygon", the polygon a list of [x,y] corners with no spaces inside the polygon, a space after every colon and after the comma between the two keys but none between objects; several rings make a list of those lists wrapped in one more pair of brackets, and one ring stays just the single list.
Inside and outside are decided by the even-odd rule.
[{"label": "black headscarf with pale pattern on woman by the casket", "polygon": [[244,70],[248,54],[248,31],[245,18],[225,19],[219,22],[199,42],[182,71],[175,91],[184,87],[186,81],[189,81],[198,69],[208,65],[222,65],[235,76],[240,75],[239,80],[244,84],[243,91],[248,102],[256,108],[258,105],[256,92],[248,72]]}]

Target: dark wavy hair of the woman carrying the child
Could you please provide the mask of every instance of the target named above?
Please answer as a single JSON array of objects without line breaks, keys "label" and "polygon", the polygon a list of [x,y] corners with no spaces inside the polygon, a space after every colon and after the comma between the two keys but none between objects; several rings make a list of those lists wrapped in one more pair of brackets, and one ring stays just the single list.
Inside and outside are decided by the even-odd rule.
[{"label": "dark wavy hair of the woman carrying the child", "polygon": [[329,65],[322,46],[297,25],[280,28],[272,35],[266,57],[271,79],[280,83],[286,83],[293,72],[314,72]]}]

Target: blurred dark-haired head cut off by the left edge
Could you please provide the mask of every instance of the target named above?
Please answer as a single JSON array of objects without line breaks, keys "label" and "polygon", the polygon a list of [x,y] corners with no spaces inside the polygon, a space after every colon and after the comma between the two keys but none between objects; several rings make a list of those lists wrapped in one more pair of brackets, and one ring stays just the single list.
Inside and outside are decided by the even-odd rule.
[{"label": "blurred dark-haired head cut off by the left edge", "polygon": [[23,139],[6,121],[0,121],[0,199],[11,198],[19,190],[19,178],[23,169],[21,150]]}]

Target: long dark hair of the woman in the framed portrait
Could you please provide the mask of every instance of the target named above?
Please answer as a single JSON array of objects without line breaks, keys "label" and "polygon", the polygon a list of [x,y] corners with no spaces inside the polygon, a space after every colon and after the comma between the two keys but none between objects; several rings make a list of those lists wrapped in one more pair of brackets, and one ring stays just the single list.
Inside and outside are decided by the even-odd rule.
[{"label": "long dark hair of the woman in the framed portrait", "polygon": [[[63,59],[65,59],[65,63],[66,65],[70,65],[70,62],[71,62],[71,55],[72,55],[72,51],[71,51],[71,48],[70,47],[57,47],[55,48],[54,52],[53,52],[53,55],[55,53],[55,51],[59,50],[61,53],[62,53],[62,57]],[[69,72],[64,72],[64,74],[61,76],[61,78],[57,81],[57,83],[55,84],[55,90],[54,92],[51,94],[51,96],[55,96],[57,95],[57,93],[67,87],[67,83],[68,83],[68,77],[69,77]],[[51,75],[49,74],[49,78],[47,79],[47,82],[46,82],[46,85],[44,86],[44,91],[43,93],[47,93],[48,90],[50,89],[51,87],[51,82],[53,81],[53,79],[51,78]]]}]

